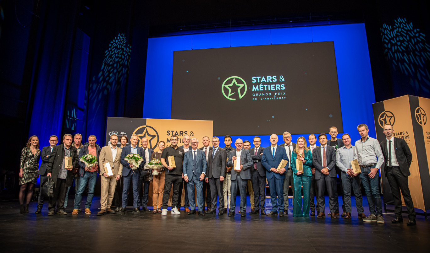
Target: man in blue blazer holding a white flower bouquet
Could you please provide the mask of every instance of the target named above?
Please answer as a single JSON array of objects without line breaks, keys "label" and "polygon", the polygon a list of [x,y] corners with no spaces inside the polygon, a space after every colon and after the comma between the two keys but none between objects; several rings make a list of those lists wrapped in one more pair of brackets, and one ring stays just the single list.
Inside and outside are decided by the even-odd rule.
[{"label": "man in blue blazer holding a white flower bouquet", "polygon": [[[128,191],[130,183],[133,183],[133,214],[139,214],[140,211],[138,209],[138,181],[140,177],[140,171],[145,164],[145,154],[142,147],[137,146],[139,137],[136,134],[133,134],[130,138],[131,145],[123,147],[123,151],[121,152],[121,164],[123,165],[123,180],[124,180],[124,188],[123,188],[123,208],[118,214],[125,214],[127,212],[126,206],[129,201]],[[138,154],[143,158],[143,161],[140,163],[139,168],[135,168],[134,166],[129,164],[124,158],[129,154]]]}]

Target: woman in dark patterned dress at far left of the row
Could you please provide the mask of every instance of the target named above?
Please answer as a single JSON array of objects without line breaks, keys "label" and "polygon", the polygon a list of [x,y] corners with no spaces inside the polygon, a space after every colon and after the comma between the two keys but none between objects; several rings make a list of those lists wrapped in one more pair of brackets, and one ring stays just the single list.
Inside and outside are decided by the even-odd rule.
[{"label": "woman in dark patterned dress at far left of the row", "polygon": [[[39,138],[36,135],[28,139],[27,145],[22,149],[21,162],[19,165],[19,213],[28,213],[28,204],[33,196],[34,185],[39,177]],[[27,200],[24,206],[25,190],[27,190]]]}]

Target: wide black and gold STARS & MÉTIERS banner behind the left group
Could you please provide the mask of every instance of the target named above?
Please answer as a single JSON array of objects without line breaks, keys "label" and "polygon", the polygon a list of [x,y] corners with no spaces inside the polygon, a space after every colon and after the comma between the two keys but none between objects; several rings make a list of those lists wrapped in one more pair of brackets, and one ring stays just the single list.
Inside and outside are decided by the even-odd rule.
[{"label": "wide black and gold STARS & M\u00c9TIERS banner behind the left group", "polygon": [[[170,146],[170,137],[178,135],[178,146],[182,146],[183,137],[185,134],[190,135],[190,138],[199,140],[199,148],[203,146],[202,138],[208,136],[212,139],[213,121],[212,120],[182,120],[182,119],[138,119],[138,118],[115,118],[107,117],[106,127],[106,145],[110,144],[112,134],[126,135],[130,140],[133,134],[139,137],[138,146],[142,146],[141,140],[146,137],[148,139],[148,147],[157,152],[157,143],[160,140],[166,142],[166,146]],[[117,146],[120,146],[120,137],[118,138]],[[127,143],[130,145],[130,141]],[[169,206],[172,204],[172,192],[170,192]],[[131,198],[129,198],[131,199]],[[184,190],[182,191],[181,206],[184,205]],[[152,206],[152,182],[149,187],[148,206]]]}]

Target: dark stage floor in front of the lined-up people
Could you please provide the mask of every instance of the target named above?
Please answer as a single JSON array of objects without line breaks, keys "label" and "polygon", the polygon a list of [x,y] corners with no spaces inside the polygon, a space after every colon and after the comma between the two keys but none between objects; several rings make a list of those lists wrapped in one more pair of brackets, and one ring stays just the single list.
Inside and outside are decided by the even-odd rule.
[{"label": "dark stage floor in front of the lined-up people", "polygon": [[355,207],[353,219],[331,220],[293,218],[292,209],[285,217],[201,217],[184,210],[178,216],[170,211],[96,216],[99,198],[93,199],[91,215],[72,216],[70,203],[73,196],[68,215],[47,216],[47,203],[36,215],[37,203],[31,202],[23,215],[18,202],[0,202],[1,252],[428,252],[430,241],[424,216],[417,216],[417,226],[406,226],[406,215],[403,224],[392,224],[393,213],[384,215],[384,224],[364,223]]}]

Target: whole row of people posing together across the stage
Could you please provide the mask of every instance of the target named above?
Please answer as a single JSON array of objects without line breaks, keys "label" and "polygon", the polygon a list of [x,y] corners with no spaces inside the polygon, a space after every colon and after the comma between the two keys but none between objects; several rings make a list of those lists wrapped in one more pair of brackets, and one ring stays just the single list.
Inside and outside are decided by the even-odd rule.
[{"label": "whole row of people posing together across the stage", "polygon": [[[393,192],[396,218],[392,223],[402,222],[402,198],[408,209],[408,225],[415,225],[415,210],[408,188],[409,166],[412,153],[401,138],[393,137],[393,126],[384,125],[386,140],[378,143],[369,137],[369,128],[365,124],[357,127],[361,139],[352,145],[350,135],[343,134],[337,139],[336,127],[329,129],[330,139],[326,134],[319,134],[320,146],[316,146],[316,135],[310,134],[307,140],[299,137],[292,143],[289,132],[283,133],[284,143],[278,145],[278,136],[270,136],[270,146],[261,147],[261,138],[253,139],[254,147],[248,140],[237,139],[236,148],[231,146],[232,138],[224,137],[225,147],[219,146],[218,137],[202,138],[203,147],[198,149],[199,140],[189,135],[183,137],[184,145],[178,146],[178,136],[172,135],[170,146],[164,141],[158,143],[158,151],[148,147],[147,138],[141,139],[132,135],[130,145],[127,136],[111,135],[110,144],[100,147],[96,137],[90,135],[88,143],[82,144],[82,136],[64,134],[63,143],[58,137],[49,138],[50,146],[39,149],[37,136],[31,136],[27,146],[22,149],[20,166],[19,201],[20,212],[28,213],[28,204],[33,194],[34,184],[40,175],[40,183],[52,179],[54,182],[53,198],[49,199],[48,215],[54,213],[67,214],[67,196],[70,186],[75,181],[76,194],[72,215],[81,210],[82,194],[88,185],[86,214],[90,214],[90,206],[94,195],[97,173],[101,176],[101,210],[97,215],[105,213],[124,214],[129,198],[129,186],[132,184],[133,214],[147,208],[149,185],[153,181],[153,213],[167,215],[170,192],[172,191],[172,214],[180,214],[181,193],[184,189],[184,210],[188,215],[197,213],[200,216],[215,214],[218,201],[218,215],[227,213],[234,216],[236,210],[237,191],[240,193],[240,216],[246,216],[246,194],[249,192],[251,202],[250,214],[268,216],[285,216],[288,214],[288,195],[291,185],[293,193],[293,216],[325,218],[325,189],[329,194],[329,213],[331,219],[338,219],[337,178],[342,192],[341,214],[351,219],[351,188],[356,199],[358,218],[364,222],[384,223],[382,201],[379,190],[379,169],[384,169]],[[119,139],[120,138],[120,139]],[[72,143],[72,141],[74,142]],[[118,140],[120,146],[117,146]],[[210,146],[212,143],[212,146]],[[79,158],[91,154],[97,157],[97,165],[88,168]],[[142,158],[140,165],[127,162],[126,156],[138,154]],[[42,164],[38,169],[38,162]],[[65,165],[65,158],[71,159],[72,166]],[[153,173],[147,165],[159,159],[162,168]],[[360,170],[355,171],[351,162],[357,159]],[[111,175],[107,173],[111,168]],[[154,175],[153,175],[154,174]],[[266,184],[269,186],[272,209],[265,213]],[[368,216],[362,206],[361,186],[364,187],[369,203]],[[27,201],[24,205],[25,191]],[[303,192],[303,193],[302,193]],[[121,194],[122,193],[122,194]],[[400,194],[401,193],[401,194]],[[122,195],[122,196],[121,196]],[[195,196],[197,199],[195,199]],[[314,199],[316,197],[316,202]],[[36,213],[41,213],[44,197],[39,196]],[[205,205],[207,206],[205,212]],[[115,206],[115,210],[111,207]],[[228,208],[227,208],[228,206]],[[228,209],[228,210],[227,210]]]}]

